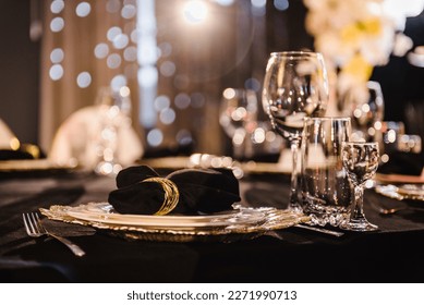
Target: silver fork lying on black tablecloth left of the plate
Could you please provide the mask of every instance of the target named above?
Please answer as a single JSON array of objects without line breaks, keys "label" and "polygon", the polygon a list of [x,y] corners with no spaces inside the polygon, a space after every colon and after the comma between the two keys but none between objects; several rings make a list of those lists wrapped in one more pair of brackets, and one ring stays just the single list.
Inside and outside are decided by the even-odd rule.
[{"label": "silver fork lying on black tablecloth left of the plate", "polygon": [[66,240],[62,236],[48,232],[46,228],[41,224],[41,221],[37,212],[27,212],[27,213],[24,212],[22,215],[22,218],[24,219],[26,233],[29,236],[39,237],[43,235],[49,235],[51,237],[54,237],[59,242],[63,243],[65,246],[68,246],[76,256],[85,255],[85,252],[81,247],[72,243],[70,240]]}]

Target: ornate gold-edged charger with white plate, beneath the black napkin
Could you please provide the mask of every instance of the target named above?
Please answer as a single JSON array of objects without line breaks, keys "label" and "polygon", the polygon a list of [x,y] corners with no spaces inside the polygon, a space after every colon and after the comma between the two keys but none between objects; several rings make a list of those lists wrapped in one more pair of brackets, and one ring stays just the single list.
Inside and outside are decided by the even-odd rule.
[{"label": "ornate gold-edged charger with white plate, beneath the black napkin", "polygon": [[113,212],[108,203],[40,209],[49,219],[89,225],[129,240],[233,242],[307,222],[303,213],[275,208],[240,208],[210,216],[141,216]]}]

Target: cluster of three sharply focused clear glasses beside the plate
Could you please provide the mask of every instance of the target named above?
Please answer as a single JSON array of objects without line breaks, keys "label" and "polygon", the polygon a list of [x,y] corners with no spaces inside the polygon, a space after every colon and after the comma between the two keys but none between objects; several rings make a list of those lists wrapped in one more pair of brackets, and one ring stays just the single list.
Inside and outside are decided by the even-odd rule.
[{"label": "cluster of three sharply focused clear glasses beside the plate", "polygon": [[[376,230],[364,216],[363,192],[364,183],[378,167],[378,144],[349,142],[353,141],[351,119],[324,117],[328,98],[326,65],[320,53],[270,54],[263,107],[272,127],[290,143],[292,151],[287,208],[310,213],[315,219],[312,224],[331,224],[352,231]],[[301,143],[302,183],[299,185]]]}]

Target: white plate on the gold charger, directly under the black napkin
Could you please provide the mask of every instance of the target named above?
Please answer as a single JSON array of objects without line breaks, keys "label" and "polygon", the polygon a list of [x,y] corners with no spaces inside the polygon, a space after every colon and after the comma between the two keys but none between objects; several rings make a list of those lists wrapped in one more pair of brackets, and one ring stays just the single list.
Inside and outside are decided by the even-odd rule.
[{"label": "white plate on the gold charger, directly under the black napkin", "polygon": [[112,210],[113,207],[108,203],[90,203],[70,208],[66,213],[89,222],[167,229],[239,225],[255,223],[264,219],[264,213],[257,210],[233,210],[208,216],[122,215]]}]

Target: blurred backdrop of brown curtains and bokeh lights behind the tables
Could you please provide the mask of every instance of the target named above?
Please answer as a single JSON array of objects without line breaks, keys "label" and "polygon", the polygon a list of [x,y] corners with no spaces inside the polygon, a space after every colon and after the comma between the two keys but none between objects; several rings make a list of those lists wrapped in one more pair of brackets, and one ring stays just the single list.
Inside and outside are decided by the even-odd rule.
[{"label": "blurred backdrop of brown curtains and bokeh lights behind the tables", "polygon": [[[404,5],[389,2],[395,11]],[[390,49],[370,80],[381,86],[384,120],[403,122],[404,133],[423,138],[421,2],[414,1],[401,25],[393,26],[395,34],[409,40]],[[0,0],[0,118],[21,143],[38,145],[47,154],[59,126],[78,109],[95,105],[101,88],[125,87],[144,157],[231,155],[232,139],[219,121],[222,93],[229,87],[252,90],[259,105],[257,118],[267,121],[261,90],[268,54],[317,48],[316,35],[306,26],[307,13],[316,9],[311,3]],[[278,152],[271,144],[265,146],[267,152]]]}]

